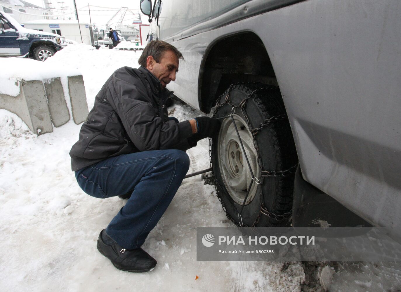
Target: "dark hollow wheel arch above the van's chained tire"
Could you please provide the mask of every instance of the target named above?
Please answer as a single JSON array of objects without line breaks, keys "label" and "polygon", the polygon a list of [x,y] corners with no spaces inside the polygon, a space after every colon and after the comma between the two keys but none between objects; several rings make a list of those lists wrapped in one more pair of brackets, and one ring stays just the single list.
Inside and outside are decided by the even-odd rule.
[{"label": "dark hollow wheel arch above the van's chained tire", "polygon": [[222,36],[206,49],[199,71],[200,109],[210,112],[217,97],[237,82],[278,85],[265,45],[252,31]]}]

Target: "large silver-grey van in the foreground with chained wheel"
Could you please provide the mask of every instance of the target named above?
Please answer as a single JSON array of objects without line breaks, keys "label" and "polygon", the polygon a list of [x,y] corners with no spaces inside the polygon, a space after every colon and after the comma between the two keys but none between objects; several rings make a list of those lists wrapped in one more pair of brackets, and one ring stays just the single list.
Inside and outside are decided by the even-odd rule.
[{"label": "large silver-grey van in the foreground with chained wheel", "polygon": [[221,118],[209,149],[229,219],[401,238],[399,1],[140,4],[150,39],[184,56],[168,88]]}]

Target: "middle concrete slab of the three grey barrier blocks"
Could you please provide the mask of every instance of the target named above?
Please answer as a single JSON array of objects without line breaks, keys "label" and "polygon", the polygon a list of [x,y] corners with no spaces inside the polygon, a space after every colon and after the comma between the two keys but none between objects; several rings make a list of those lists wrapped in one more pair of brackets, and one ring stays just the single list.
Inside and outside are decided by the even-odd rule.
[{"label": "middle concrete slab of the three grey barrier blocks", "polygon": [[60,127],[70,120],[67,102],[64,98],[63,85],[60,77],[44,81],[50,118],[55,127]]}]

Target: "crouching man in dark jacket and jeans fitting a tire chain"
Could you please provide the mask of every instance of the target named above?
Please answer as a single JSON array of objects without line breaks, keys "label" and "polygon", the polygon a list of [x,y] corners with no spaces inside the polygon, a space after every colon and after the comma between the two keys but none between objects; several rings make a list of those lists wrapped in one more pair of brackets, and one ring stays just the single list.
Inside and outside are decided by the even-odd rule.
[{"label": "crouching man in dark jacket and jeans fitting a tire chain", "polygon": [[99,252],[120,270],[146,272],[156,266],[141,246],[188,171],[184,151],[219,132],[213,118],[168,118],[164,102],[172,92],[166,85],[175,80],[179,59],[174,46],[151,41],[139,69],[115,71],[96,95],[70,151],[85,193],[100,199],[129,197],[97,239]]}]

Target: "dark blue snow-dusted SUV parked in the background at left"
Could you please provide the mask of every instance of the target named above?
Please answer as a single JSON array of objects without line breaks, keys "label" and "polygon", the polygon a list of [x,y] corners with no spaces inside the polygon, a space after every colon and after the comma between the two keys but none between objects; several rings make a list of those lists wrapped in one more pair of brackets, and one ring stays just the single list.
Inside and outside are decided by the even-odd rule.
[{"label": "dark blue snow-dusted SUV parked in the background at left", "polygon": [[45,61],[67,42],[62,36],[26,29],[6,13],[0,12],[0,57],[30,57]]}]

